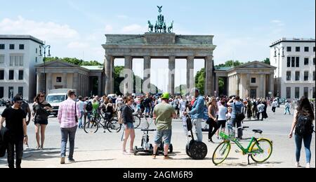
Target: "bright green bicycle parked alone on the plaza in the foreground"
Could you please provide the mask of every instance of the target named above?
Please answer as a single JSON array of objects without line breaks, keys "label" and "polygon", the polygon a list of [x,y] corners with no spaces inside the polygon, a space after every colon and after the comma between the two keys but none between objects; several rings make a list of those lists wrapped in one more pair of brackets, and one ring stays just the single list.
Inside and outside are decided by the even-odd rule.
[{"label": "bright green bicycle parked alone on the plaza in the foreground", "polygon": [[[243,130],[249,127],[243,127]],[[263,131],[259,129],[253,130],[255,133],[262,134]],[[220,137],[224,139],[223,143],[220,143],[216,150],[213,153],[213,164],[218,165],[223,163],[230,153],[231,145],[230,143],[236,143],[236,145],[242,150],[242,155],[248,155],[248,164],[249,157],[251,157],[254,162],[263,163],[267,161],[272,155],[272,141],[268,138],[255,138],[252,137],[248,145],[248,148],[244,148],[239,141],[234,136],[229,136],[223,132],[220,132]]]}]

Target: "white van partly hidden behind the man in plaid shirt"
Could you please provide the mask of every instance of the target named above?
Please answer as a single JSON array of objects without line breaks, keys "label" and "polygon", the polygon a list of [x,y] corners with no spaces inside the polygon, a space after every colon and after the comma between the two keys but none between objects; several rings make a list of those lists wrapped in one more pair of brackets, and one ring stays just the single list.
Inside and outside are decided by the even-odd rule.
[{"label": "white van partly hidden behind the man in plaid shirt", "polygon": [[55,89],[48,91],[46,102],[49,103],[53,108],[53,112],[51,112],[51,115],[54,115],[55,117],[58,115],[59,105],[63,101],[67,100],[67,92],[69,90],[73,89]]}]

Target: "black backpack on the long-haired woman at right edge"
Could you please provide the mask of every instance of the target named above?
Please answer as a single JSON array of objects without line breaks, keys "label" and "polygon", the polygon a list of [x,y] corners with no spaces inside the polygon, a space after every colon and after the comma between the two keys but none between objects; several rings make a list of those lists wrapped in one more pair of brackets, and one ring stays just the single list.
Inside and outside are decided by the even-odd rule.
[{"label": "black backpack on the long-haired woman at right edge", "polygon": [[314,126],[312,126],[312,119],[306,115],[300,115],[297,119],[295,134],[298,136],[308,136],[312,134]]}]

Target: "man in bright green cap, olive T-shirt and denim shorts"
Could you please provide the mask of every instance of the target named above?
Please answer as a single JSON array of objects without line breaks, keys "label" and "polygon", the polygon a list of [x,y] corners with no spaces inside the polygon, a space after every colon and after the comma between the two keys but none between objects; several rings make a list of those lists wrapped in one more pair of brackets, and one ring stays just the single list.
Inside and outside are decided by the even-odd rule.
[{"label": "man in bright green cap, olive T-shirt and denim shorts", "polygon": [[159,103],[154,107],[153,118],[154,124],[157,126],[157,134],[154,139],[154,159],[156,159],[157,148],[160,145],[160,141],[164,137],[164,160],[170,160],[168,156],[169,145],[171,144],[172,135],[172,118],[176,118],[176,111],[169,104],[169,93],[162,95],[162,103]]}]

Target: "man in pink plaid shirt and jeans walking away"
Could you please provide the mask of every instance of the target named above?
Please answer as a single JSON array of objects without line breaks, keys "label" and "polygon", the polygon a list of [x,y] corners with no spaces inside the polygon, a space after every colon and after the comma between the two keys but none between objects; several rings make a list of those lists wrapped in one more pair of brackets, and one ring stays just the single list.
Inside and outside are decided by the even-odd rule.
[{"label": "man in pink plaid shirt and jeans walking away", "polygon": [[60,103],[58,110],[58,122],[60,123],[61,130],[61,160],[60,164],[65,164],[66,147],[69,137],[70,152],[68,156],[69,162],[75,162],[74,155],[74,137],[76,136],[78,118],[80,118],[79,105],[74,101],[76,93],[73,90],[67,92],[68,99]]}]

